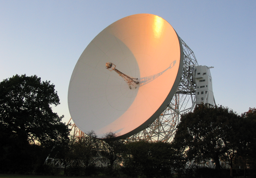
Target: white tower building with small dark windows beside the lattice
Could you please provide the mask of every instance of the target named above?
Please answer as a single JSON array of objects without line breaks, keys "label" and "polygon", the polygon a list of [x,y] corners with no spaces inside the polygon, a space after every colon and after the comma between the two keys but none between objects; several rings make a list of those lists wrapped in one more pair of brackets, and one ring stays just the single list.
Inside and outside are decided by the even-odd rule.
[{"label": "white tower building with small dark windows beside the lattice", "polygon": [[196,83],[196,104],[203,103],[208,107],[216,105],[210,68],[213,67],[196,66],[196,70],[193,71]]}]

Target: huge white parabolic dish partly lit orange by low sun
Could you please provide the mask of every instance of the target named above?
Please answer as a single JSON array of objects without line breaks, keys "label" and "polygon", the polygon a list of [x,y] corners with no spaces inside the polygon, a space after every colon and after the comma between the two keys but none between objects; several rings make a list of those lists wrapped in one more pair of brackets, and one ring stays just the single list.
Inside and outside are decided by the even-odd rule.
[{"label": "huge white parabolic dish partly lit orange by low sun", "polygon": [[[120,73],[106,69],[110,62],[139,83],[129,85]],[[68,88],[70,115],[81,131],[93,130],[99,138],[110,131],[120,139],[132,136],[167,107],[182,66],[182,44],[166,20],[152,14],[117,20],[77,61]]]}]

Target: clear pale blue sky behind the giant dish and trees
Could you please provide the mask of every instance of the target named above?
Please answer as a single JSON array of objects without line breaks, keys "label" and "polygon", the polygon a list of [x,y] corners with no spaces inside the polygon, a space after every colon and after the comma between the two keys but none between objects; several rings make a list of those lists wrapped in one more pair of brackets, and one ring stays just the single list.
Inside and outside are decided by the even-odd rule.
[{"label": "clear pale blue sky behind the giant dish and trees", "polygon": [[0,80],[15,74],[50,80],[60,97],[54,112],[68,122],[74,66],[111,23],[149,13],[167,20],[211,69],[216,103],[238,113],[256,107],[256,1],[3,1]]}]

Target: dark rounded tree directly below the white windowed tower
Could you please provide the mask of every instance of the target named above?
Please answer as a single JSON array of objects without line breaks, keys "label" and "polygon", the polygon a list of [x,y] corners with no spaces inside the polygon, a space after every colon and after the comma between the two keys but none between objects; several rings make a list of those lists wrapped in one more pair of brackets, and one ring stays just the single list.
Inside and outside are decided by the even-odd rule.
[{"label": "dark rounded tree directly below the white windowed tower", "polygon": [[189,160],[197,162],[213,159],[220,171],[219,159],[232,158],[238,149],[236,132],[240,117],[226,107],[208,108],[201,104],[193,112],[181,117],[174,137],[174,144],[181,148]]}]

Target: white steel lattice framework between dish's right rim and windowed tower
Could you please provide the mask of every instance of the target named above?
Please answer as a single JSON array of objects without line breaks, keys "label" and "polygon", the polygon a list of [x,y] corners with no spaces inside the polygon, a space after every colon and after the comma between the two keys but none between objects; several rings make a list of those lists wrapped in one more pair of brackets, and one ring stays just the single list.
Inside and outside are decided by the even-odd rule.
[{"label": "white steel lattice framework between dish's right rim and windowed tower", "polygon": [[151,125],[138,134],[128,138],[128,141],[147,140],[151,142],[171,142],[174,138],[176,126],[179,124],[181,115],[192,111],[196,94],[193,70],[198,66],[198,63],[193,51],[182,39],[180,40],[184,53],[183,70],[179,86],[172,100]]}]

